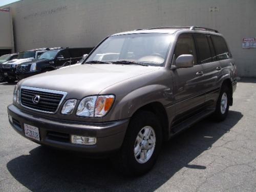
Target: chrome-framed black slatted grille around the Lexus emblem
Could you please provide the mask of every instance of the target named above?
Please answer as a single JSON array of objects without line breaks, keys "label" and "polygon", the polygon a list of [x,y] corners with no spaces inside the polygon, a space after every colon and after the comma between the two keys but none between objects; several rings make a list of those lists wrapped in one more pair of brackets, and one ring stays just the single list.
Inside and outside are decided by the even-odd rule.
[{"label": "chrome-framed black slatted grille around the Lexus emblem", "polygon": [[[66,94],[66,92],[60,91],[22,88],[20,91],[20,101],[25,108],[45,113],[56,113]],[[40,97],[38,103],[34,103],[32,100],[35,96]]]}]

